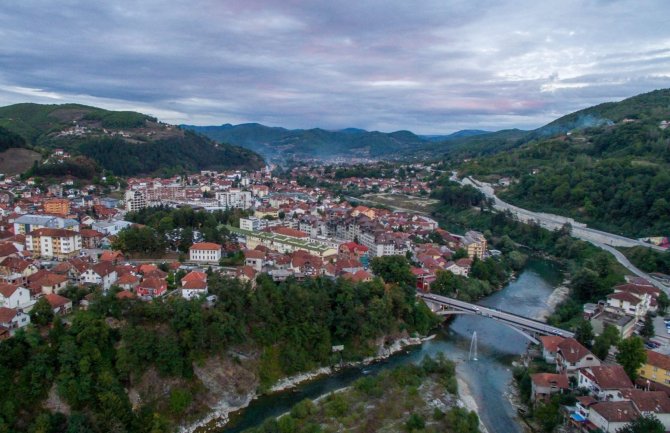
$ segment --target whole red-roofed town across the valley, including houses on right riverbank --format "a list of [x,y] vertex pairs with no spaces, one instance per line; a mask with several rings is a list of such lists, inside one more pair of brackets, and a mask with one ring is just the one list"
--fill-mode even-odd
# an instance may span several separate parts
[[[346,166],[298,166],[281,177],[266,167],[128,178],[123,185],[106,178],[91,185],[5,178],[0,185],[0,340],[31,322],[48,324],[45,316],[67,320],[73,310],[88,308],[96,292],[146,302],[181,296],[216,303],[207,285],[213,273],[236,278],[249,290],[259,274],[276,282],[317,276],[366,282],[375,278],[375,258],[401,256],[412,264],[416,289],[430,292],[443,273],[467,278],[475,262],[495,260],[501,251],[490,248],[480,232],[450,233],[420,210],[363,205],[366,199],[357,203],[355,196],[425,198],[437,176],[431,166],[414,164],[382,168],[375,177]],[[215,215],[214,229],[162,218],[168,227],[157,248],[143,249],[146,240],[140,248],[131,243],[133,231],[156,236],[135,221],[138,216],[184,209]],[[87,294],[72,300],[67,295],[73,288]],[[565,428],[572,431],[615,432],[650,414],[670,429],[665,335],[654,339],[647,331],[646,360],[632,372],[617,362],[614,343],[598,355],[586,347],[594,338],[597,345],[602,335],[620,341],[640,334],[651,315],[655,329],[665,329],[659,315],[667,308],[664,295],[648,281],[629,277],[606,299],[584,305],[593,336],[581,342],[579,336],[539,337],[537,356],[551,371],[529,376],[532,404],[547,403],[556,394],[576,395],[562,405]]]

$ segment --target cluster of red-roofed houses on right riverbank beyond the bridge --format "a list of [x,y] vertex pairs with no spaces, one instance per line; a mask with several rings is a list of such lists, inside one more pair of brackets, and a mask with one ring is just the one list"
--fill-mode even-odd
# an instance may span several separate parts
[[[612,326],[620,338],[628,338],[640,319],[656,310],[658,295],[646,280],[630,277],[606,301],[587,304],[584,317],[596,334]],[[641,415],[654,415],[670,430],[670,356],[647,350],[647,361],[633,383],[611,357],[600,360],[574,338],[543,336],[540,343],[542,357],[556,372],[531,375],[531,399],[546,402],[556,393],[579,390],[576,404],[564,407],[571,431],[614,433]]]

